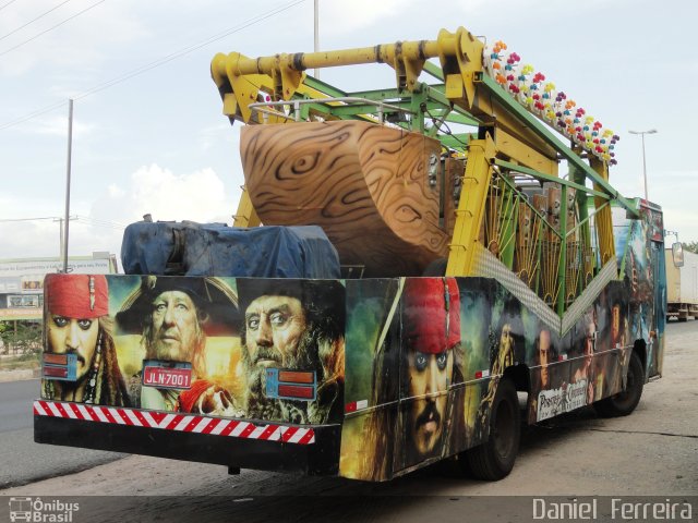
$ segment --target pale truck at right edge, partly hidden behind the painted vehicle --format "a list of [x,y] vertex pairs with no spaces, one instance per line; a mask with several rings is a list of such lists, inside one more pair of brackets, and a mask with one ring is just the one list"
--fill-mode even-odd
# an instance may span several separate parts
[[666,320],[686,321],[698,317],[698,254],[683,250],[683,265],[673,263],[671,248],[664,251],[666,258]]

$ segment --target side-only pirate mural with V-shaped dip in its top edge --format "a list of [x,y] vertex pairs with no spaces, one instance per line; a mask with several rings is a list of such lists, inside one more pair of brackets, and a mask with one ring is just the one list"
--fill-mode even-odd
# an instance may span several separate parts
[[492,279],[380,282],[347,282],[341,475],[388,479],[485,441],[510,366],[529,373],[529,423],[623,389],[631,343],[622,281],[563,336]]

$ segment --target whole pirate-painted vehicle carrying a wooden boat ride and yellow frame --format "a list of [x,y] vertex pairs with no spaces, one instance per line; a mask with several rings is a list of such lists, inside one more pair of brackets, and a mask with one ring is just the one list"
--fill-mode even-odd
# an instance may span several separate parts
[[[306,73],[364,64],[394,85]],[[504,42],[218,53],[212,76],[243,125],[233,227],[133,223],[127,275],[47,277],[37,442],[494,481],[521,422],[628,415],[661,376],[661,207],[611,185],[617,135]]]

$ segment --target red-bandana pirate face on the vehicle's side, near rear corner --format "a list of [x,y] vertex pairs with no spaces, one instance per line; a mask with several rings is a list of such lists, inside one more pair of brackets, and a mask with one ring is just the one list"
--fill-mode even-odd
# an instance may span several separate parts
[[[408,398],[406,464],[441,455],[447,433],[448,387],[460,380],[460,295],[455,278],[411,278],[405,283],[404,329]],[[452,405],[453,408],[453,405]]]

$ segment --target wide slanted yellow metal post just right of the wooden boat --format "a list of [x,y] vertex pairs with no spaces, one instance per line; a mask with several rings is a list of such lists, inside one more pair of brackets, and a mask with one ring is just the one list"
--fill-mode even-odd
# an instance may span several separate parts
[[490,135],[485,135],[484,139],[474,139],[468,146],[466,173],[456,210],[446,276],[469,276],[472,272],[474,247],[482,228],[492,179],[492,160],[495,155],[496,149]]

